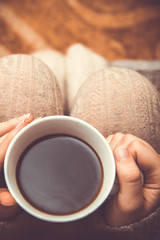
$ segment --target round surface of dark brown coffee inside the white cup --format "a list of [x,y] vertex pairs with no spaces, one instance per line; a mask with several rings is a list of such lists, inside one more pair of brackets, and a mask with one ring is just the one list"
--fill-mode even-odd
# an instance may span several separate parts
[[100,160],[83,141],[67,135],[46,136],[22,154],[17,182],[26,200],[54,215],[67,215],[88,206],[103,179]]

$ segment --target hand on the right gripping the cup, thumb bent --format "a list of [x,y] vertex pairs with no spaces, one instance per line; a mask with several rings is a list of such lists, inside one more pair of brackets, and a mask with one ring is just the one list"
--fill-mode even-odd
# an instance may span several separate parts
[[146,217],[159,206],[160,155],[131,134],[116,133],[107,141],[115,157],[120,190],[106,205],[105,218],[108,225],[119,227]]

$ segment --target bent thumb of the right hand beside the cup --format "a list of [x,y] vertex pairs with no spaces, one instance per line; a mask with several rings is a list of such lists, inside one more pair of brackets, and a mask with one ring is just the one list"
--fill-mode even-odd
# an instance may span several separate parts
[[118,147],[114,152],[119,180],[118,207],[123,211],[134,212],[143,204],[143,180],[141,172],[127,148]]

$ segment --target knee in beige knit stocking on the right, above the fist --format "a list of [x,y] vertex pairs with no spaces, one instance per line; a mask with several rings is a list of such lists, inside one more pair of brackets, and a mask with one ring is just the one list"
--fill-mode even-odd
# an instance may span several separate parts
[[112,67],[93,74],[81,86],[70,115],[89,122],[104,137],[131,133],[160,152],[160,95],[133,70]]

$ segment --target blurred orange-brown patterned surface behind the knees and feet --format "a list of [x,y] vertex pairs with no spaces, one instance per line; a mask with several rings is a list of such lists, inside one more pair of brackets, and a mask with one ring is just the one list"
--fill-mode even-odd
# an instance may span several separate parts
[[159,60],[160,1],[0,0],[0,57],[74,43],[108,60]]

